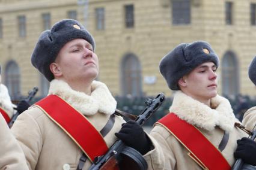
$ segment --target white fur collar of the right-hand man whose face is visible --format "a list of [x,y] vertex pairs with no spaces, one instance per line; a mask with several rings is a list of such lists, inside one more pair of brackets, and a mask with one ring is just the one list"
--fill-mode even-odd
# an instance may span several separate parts
[[174,95],[169,111],[187,123],[206,130],[213,130],[215,126],[219,126],[230,132],[234,128],[234,123],[239,122],[228,99],[217,95],[211,99],[211,106],[212,108],[178,91]]

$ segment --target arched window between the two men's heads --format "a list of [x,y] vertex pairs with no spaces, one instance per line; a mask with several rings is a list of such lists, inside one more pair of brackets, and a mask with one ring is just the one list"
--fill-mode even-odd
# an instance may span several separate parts
[[134,54],[126,54],[121,63],[123,95],[141,96],[141,65]]

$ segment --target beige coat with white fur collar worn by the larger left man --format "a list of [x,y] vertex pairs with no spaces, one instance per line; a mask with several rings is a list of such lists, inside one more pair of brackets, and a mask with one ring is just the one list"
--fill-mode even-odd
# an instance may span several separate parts
[[[99,81],[93,82],[92,93],[88,96],[72,90],[64,81],[53,80],[49,94],[60,96],[84,114],[97,130],[106,125],[117,105],[106,85]],[[108,147],[117,140],[114,133],[120,130],[122,123],[123,118],[116,116],[113,128],[104,138]],[[22,113],[11,130],[25,153],[29,169],[76,169],[78,166],[81,149],[40,108],[32,106]],[[145,159],[151,160],[154,153],[151,150],[145,154]],[[83,169],[90,165],[87,160]]]

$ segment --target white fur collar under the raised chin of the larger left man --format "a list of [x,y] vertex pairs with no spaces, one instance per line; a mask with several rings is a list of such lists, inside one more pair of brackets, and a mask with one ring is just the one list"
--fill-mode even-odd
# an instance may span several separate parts
[[100,113],[112,114],[117,107],[117,101],[109,92],[108,87],[100,81],[91,84],[91,95],[73,90],[69,84],[61,80],[50,82],[49,95],[58,95],[72,107],[84,115]]

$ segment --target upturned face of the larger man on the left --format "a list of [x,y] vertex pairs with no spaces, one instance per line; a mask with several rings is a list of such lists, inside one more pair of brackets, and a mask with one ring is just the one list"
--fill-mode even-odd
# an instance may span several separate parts
[[59,51],[55,63],[67,82],[94,80],[99,73],[98,57],[92,45],[84,39],[67,42]]

